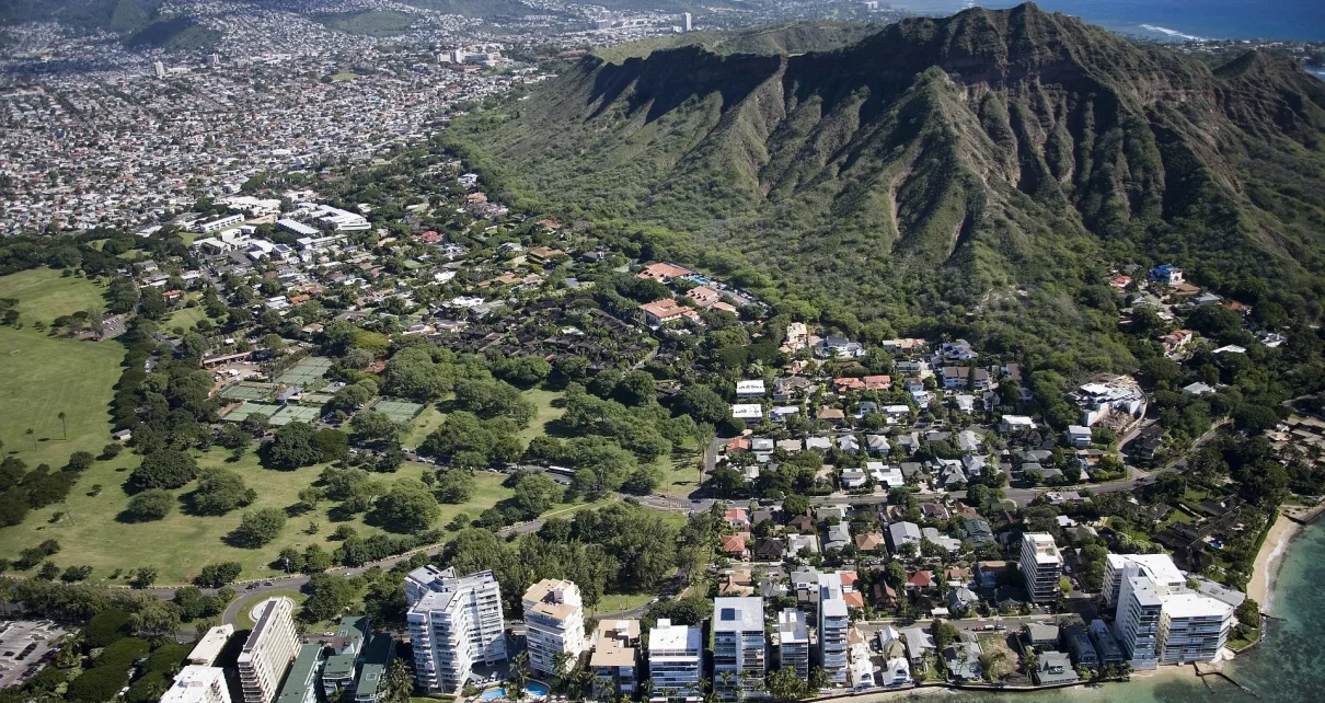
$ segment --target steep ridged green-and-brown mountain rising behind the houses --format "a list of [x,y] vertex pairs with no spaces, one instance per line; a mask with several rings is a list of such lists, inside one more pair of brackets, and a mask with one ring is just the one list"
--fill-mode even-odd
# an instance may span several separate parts
[[543,204],[847,287],[946,269],[974,299],[1101,248],[1292,277],[1322,246],[1325,85],[1259,54],[1211,70],[1032,4],[790,57],[591,57],[481,124],[453,142]]

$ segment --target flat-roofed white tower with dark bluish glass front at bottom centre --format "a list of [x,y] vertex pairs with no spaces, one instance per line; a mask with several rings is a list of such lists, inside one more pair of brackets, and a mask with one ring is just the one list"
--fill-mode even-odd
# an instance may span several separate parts
[[768,642],[763,598],[713,600],[713,690],[723,700],[765,698]]

